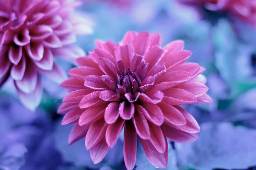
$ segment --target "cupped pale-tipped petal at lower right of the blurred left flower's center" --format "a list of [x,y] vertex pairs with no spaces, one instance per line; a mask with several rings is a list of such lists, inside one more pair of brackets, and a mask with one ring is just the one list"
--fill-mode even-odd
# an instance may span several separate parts
[[44,56],[40,61],[35,61],[35,65],[42,70],[52,70],[53,67],[53,55],[49,48],[44,49]]

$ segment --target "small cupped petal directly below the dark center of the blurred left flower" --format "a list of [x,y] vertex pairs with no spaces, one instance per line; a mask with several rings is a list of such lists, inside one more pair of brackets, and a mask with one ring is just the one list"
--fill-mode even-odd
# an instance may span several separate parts
[[12,45],[9,48],[8,57],[14,65],[17,65],[22,57],[22,46]]

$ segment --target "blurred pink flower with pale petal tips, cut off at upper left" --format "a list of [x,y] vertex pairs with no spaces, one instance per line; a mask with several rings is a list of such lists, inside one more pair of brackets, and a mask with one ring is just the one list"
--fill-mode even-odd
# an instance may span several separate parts
[[35,109],[41,101],[41,74],[61,83],[66,74],[53,56],[75,59],[71,45],[87,34],[86,20],[73,13],[77,0],[0,0],[0,86],[14,79],[21,102]]

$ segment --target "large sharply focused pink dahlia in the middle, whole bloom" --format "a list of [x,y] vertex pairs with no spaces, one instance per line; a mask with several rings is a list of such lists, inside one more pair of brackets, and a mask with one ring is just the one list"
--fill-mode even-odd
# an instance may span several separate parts
[[198,139],[200,128],[178,105],[209,103],[204,68],[184,63],[191,52],[183,41],[161,48],[159,34],[129,31],[122,43],[96,41],[89,57],[77,59],[72,78],[61,86],[67,95],[59,113],[62,125],[75,123],[69,144],[85,138],[94,163],[116,144],[124,127],[124,159],[128,170],[136,160],[137,135],[148,161],[155,167],[168,163],[167,139],[187,143]]

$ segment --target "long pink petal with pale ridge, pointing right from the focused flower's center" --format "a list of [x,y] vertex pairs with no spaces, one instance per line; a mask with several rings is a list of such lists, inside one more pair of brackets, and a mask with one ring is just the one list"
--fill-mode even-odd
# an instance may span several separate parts
[[168,71],[157,80],[154,90],[166,90],[183,82],[189,81],[191,74],[186,71]]

